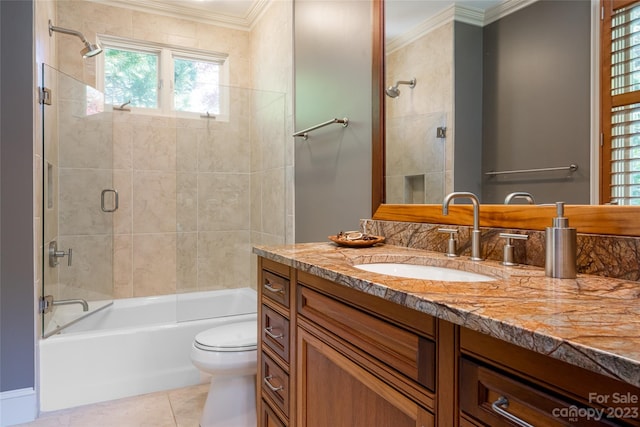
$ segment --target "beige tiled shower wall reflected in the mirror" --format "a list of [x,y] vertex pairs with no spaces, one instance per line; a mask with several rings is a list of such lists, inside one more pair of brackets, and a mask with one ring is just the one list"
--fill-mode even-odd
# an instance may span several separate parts
[[440,203],[453,188],[453,22],[398,44],[386,56],[385,85],[417,83],[385,97],[387,203]]

